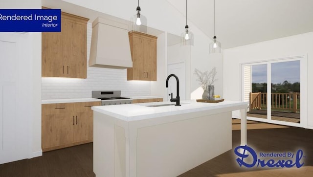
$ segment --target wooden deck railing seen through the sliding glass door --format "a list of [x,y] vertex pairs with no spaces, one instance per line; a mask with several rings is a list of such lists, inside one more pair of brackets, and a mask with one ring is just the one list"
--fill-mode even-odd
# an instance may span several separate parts
[[[272,110],[289,110],[300,112],[300,93],[271,93],[270,108]],[[250,110],[260,110],[267,108],[267,93],[250,93]]]

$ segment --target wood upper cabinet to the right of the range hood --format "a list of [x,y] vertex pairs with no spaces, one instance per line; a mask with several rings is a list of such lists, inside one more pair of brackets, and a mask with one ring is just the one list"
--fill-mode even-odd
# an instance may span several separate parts
[[127,68],[127,80],[156,81],[156,36],[129,32],[133,67]]

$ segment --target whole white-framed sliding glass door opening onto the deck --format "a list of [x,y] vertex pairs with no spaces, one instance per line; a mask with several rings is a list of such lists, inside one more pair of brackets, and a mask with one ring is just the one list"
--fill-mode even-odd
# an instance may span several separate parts
[[242,100],[249,102],[250,120],[300,123],[300,61],[292,58],[242,65]]

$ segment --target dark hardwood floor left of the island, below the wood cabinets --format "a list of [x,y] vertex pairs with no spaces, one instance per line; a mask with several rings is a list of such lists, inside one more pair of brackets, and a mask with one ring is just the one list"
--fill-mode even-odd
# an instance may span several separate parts
[[0,165],[0,177],[95,177],[92,143]]

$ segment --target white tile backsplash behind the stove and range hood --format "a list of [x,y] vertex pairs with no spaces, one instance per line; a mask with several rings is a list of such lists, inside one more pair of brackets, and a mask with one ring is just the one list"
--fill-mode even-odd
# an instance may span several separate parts
[[[87,59],[92,26],[87,25]],[[88,62],[87,62],[88,63]],[[42,99],[91,98],[91,90],[121,90],[122,96],[150,95],[149,81],[127,81],[126,69],[87,67],[87,79],[42,78]]]

